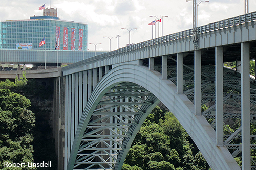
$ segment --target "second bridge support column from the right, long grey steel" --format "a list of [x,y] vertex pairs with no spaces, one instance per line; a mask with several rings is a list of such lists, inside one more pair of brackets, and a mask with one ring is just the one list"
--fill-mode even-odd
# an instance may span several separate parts
[[223,146],[223,47],[215,47],[216,145]]

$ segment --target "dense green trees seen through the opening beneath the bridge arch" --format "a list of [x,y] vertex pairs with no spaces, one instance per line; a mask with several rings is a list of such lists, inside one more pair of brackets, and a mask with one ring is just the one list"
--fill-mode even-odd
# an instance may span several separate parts
[[141,126],[122,169],[209,169],[190,140],[172,113],[156,107]]

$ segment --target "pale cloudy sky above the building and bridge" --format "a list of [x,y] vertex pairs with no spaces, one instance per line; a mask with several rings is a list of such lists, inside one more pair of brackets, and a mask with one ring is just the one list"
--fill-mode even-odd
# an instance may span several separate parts
[[[201,0],[197,0],[199,3]],[[173,34],[192,28],[193,2],[186,0],[12,0],[0,4],[0,21],[29,19],[30,16],[42,16],[41,5],[46,8],[57,8],[61,20],[88,24],[88,50],[95,46],[89,43],[102,43],[96,46],[97,51],[116,50],[131,43],[152,39],[152,26],[148,23],[156,17],[163,17],[160,23],[160,36]],[[249,12],[256,11],[256,1],[249,0]],[[199,26],[244,14],[244,0],[210,0],[199,4]],[[149,17],[149,16],[156,17]],[[126,28],[126,29],[121,29]],[[155,28],[155,27],[154,27]],[[154,38],[155,38],[155,30]],[[156,27],[158,37],[158,23]]]

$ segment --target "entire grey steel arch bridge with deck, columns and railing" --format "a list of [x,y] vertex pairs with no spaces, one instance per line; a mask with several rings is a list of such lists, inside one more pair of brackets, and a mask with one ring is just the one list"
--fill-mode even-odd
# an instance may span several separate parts
[[[256,13],[141,42],[63,68],[65,169],[121,169],[134,137],[161,101],[212,169],[255,169]],[[208,29],[208,30],[207,30]],[[231,69],[224,62],[236,62]],[[201,112],[203,104],[209,109]],[[227,119],[241,120],[225,132]],[[234,158],[242,154],[242,167]]]

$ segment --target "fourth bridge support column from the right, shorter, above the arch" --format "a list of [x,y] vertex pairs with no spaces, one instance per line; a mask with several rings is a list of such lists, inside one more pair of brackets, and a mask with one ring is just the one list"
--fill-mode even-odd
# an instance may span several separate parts
[[177,94],[183,93],[183,54],[177,53]]

